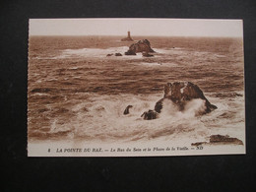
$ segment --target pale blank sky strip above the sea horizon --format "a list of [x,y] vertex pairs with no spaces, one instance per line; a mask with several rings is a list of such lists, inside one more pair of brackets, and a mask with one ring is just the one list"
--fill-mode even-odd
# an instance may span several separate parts
[[242,20],[30,19],[30,35],[156,35],[242,37]]

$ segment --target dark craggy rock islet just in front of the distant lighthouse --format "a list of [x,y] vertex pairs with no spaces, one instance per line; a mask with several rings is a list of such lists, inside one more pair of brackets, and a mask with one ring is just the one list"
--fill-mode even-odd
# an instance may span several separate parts
[[143,40],[139,40],[136,43],[133,43],[130,45],[128,51],[126,51],[124,54],[125,55],[136,55],[136,53],[138,52],[155,52],[152,48],[151,48],[151,43],[148,39],[143,39]]

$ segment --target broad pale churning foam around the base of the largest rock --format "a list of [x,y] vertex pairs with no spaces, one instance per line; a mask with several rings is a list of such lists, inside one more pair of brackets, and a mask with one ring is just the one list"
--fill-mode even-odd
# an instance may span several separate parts
[[[71,110],[74,117],[66,124],[52,122],[51,132],[71,130],[70,137],[74,139],[88,138],[102,141],[145,141],[152,138],[161,140],[175,140],[177,137],[186,137],[186,142],[205,141],[210,135],[223,134],[231,137],[239,136],[242,141],[244,131],[244,116],[242,113],[235,117],[222,118],[224,112],[232,114],[237,106],[217,97],[209,97],[218,109],[211,113],[197,116],[204,110],[204,100],[193,99],[187,103],[183,111],[170,101],[163,101],[160,117],[155,120],[144,120],[141,115],[144,111],[154,109],[156,101],[161,95],[152,96],[92,96],[92,99],[80,101]],[[237,99],[237,98],[234,98]],[[238,98],[240,99],[240,98]],[[236,100],[237,101],[237,100]],[[124,115],[127,105],[133,105],[130,113]],[[240,109],[243,106],[239,106]],[[233,119],[238,119],[234,122]],[[222,129],[224,125],[224,129]]]

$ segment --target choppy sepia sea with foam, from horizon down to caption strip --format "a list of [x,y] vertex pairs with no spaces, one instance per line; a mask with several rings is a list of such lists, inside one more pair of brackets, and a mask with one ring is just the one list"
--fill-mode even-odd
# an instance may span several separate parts
[[[111,56],[131,42],[120,36],[31,36],[29,140],[142,141],[213,133],[244,140],[243,44],[240,38],[147,37],[155,57]],[[143,37],[134,37],[142,39]],[[198,85],[218,109],[201,117],[164,107],[143,120],[167,82]],[[131,114],[123,115],[132,104]]]

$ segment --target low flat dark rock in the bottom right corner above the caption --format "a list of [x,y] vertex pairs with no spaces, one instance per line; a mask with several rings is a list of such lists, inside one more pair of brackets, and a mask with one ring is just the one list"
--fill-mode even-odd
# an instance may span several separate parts
[[192,143],[191,146],[201,146],[209,144],[233,144],[233,145],[243,145],[243,142],[237,138],[231,138],[228,135],[211,135],[209,142],[197,142]]

